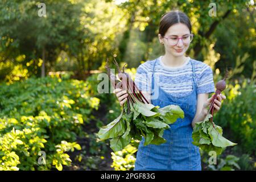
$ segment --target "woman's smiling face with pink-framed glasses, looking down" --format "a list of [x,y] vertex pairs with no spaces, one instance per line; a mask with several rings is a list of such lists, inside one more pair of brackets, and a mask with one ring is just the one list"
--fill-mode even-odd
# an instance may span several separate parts
[[188,39],[190,40],[190,34],[191,33],[185,24],[176,23],[168,28],[166,34],[164,35],[165,38],[160,36],[160,34],[158,34],[158,37],[160,43],[164,44],[166,52],[175,57],[179,57],[183,56],[189,47],[190,41],[188,41]]

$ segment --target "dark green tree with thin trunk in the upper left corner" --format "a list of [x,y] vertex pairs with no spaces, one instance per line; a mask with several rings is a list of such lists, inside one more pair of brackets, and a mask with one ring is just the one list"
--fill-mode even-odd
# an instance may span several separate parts
[[[43,1],[46,16],[39,16],[38,3],[35,1],[7,1],[0,5],[0,36],[5,59],[26,55],[26,62],[31,59],[43,59],[42,76],[45,76],[46,60],[55,61],[61,49],[79,42],[81,31],[79,17],[81,6],[70,1]],[[66,18],[69,17],[69,18]],[[75,42],[75,43],[74,43]],[[15,49],[15,51],[11,51]]]

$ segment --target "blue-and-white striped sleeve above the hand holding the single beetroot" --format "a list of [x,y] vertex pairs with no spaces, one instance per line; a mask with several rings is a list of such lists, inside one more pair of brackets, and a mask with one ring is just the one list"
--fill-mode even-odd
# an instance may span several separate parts
[[202,68],[199,84],[197,86],[197,94],[200,93],[213,93],[215,91],[213,82],[213,72],[209,65]]

